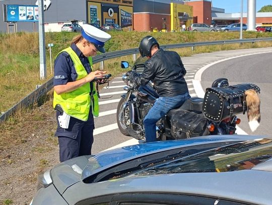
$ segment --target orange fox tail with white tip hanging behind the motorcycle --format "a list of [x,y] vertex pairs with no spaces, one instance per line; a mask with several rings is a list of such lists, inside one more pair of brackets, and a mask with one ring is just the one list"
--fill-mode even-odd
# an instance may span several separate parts
[[255,131],[260,122],[260,99],[257,92],[253,89],[245,91],[247,118],[251,131]]

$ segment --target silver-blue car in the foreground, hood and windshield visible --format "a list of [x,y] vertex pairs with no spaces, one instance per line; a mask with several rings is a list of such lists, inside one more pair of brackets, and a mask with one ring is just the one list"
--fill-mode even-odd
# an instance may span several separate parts
[[210,135],[67,160],[39,175],[31,204],[270,205],[271,184],[271,136]]

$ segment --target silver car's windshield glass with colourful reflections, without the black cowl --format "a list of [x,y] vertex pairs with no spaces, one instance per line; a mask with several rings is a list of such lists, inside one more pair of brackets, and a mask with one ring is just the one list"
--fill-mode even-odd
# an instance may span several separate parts
[[238,143],[175,159],[140,171],[138,175],[189,172],[230,172],[251,169],[272,157],[271,140]]

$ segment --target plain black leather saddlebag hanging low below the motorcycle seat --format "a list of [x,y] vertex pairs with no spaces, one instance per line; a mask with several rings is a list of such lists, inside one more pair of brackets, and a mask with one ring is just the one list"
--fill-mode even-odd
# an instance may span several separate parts
[[177,110],[170,116],[170,121],[171,135],[177,140],[210,133],[207,129],[207,119],[202,114]]

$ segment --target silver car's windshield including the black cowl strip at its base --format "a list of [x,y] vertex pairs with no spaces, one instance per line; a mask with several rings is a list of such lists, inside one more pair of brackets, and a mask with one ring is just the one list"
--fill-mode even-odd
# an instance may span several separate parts
[[272,156],[272,140],[214,143],[168,150],[134,158],[84,179],[94,183],[131,174],[228,172],[251,169]]

